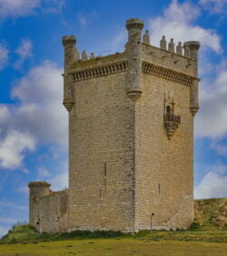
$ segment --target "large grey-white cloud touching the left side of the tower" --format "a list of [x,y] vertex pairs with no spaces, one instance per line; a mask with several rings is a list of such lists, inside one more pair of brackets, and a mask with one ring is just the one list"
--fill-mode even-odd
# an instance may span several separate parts
[[25,129],[41,143],[67,145],[67,111],[63,102],[63,70],[53,63],[33,67],[18,81],[12,95],[21,104],[15,109],[15,127]]

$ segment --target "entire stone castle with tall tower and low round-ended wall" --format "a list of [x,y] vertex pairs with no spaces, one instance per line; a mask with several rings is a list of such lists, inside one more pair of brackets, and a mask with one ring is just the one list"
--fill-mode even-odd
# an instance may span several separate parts
[[[40,232],[185,229],[193,220],[193,117],[199,42],[151,46],[143,21],[126,21],[123,53],[79,54],[64,36],[69,189],[30,182]],[[142,40],[143,37],[143,40]]]

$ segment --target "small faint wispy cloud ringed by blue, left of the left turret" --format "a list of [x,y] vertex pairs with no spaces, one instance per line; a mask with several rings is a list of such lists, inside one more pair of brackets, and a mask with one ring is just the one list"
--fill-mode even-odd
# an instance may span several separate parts
[[21,67],[25,62],[25,59],[33,56],[32,50],[32,42],[30,40],[23,39],[15,50],[15,53],[19,56],[19,59],[15,62],[15,68]]

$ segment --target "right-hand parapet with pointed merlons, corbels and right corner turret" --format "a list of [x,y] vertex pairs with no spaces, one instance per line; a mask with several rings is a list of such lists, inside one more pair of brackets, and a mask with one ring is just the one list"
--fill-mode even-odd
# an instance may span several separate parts
[[[167,49],[168,46],[168,49]],[[167,44],[165,36],[160,47],[143,43],[143,73],[163,77],[190,87],[190,109],[192,116],[199,109],[198,99],[198,52],[197,41],[174,44],[173,38]]]

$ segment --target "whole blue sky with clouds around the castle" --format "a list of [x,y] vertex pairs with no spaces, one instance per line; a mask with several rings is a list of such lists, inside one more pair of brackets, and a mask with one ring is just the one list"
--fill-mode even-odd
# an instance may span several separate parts
[[201,42],[195,198],[227,197],[226,11],[227,0],[0,0],[0,236],[28,220],[29,181],[67,187],[62,36],[89,55],[123,51],[131,17],[154,46]]

